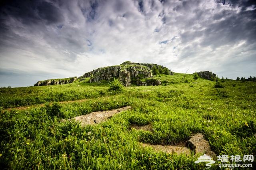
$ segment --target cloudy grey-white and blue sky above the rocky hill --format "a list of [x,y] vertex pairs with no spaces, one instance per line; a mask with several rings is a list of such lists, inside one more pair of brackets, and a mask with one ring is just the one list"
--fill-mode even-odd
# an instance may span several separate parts
[[256,76],[256,1],[0,1],[0,87],[145,59],[176,73]]

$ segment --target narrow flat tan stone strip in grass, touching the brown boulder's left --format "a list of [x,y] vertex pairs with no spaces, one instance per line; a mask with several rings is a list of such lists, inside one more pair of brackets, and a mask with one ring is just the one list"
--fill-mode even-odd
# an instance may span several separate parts
[[190,155],[190,152],[191,152],[191,150],[186,146],[171,146],[171,145],[162,146],[162,145],[152,145],[152,144],[145,144],[145,143],[141,143],[141,145],[143,147],[150,146],[157,152],[166,152],[168,154],[176,153],[178,155],[179,154]]

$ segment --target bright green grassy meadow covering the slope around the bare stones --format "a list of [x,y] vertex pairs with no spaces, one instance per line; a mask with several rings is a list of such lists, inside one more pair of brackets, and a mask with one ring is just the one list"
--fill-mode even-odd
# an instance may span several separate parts
[[[204,134],[217,156],[256,158],[255,82],[226,79],[216,86],[215,81],[181,73],[156,78],[165,83],[120,92],[109,91],[107,82],[88,83],[88,79],[0,88],[0,167],[200,170],[206,166],[194,163],[199,157],[194,152],[167,154],[140,145],[178,145],[197,132]],[[94,126],[60,121],[129,105],[131,110]],[[131,124],[151,124],[153,130],[131,129]],[[210,169],[220,169],[219,163]],[[255,160],[247,163],[256,167]]]

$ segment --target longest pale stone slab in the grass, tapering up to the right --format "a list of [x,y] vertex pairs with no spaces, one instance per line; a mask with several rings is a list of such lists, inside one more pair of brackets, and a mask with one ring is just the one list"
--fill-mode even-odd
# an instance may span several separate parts
[[[109,117],[112,117],[113,115],[116,115],[119,112],[126,111],[128,109],[131,109],[131,106],[126,106],[126,107],[113,109],[109,111],[92,112],[90,114],[74,117],[72,119],[74,119],[75,121],[81,122],[82,126],[95,125],[103,121],[106,121]],[[68,120],[71,120],[71,119],[68,119]],[[65,119],[62,119],[62,121],[65,121]]]

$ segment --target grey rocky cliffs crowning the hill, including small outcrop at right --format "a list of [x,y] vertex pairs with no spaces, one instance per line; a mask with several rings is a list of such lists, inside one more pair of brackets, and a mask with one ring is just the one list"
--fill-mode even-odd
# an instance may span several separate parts
[[[80,77],[71,77],[66,79],[50,79],[38,81],[34,86],[43,85],[62,85],[73,83],[74,81],[84,81],[88,78],[90,83],[101,83],[102,81],[113,81],[118,79],[125,87],[130,85],[147,86],[161,85],[162,83],[170,83],[168,80],[158,75],[174,75],[175,73],[164,67],[153,63],[132,63],[125,61],[120,65],[100,67]],[[216,74],[210,71],[200,71],[198,75],[204,79],[214,81]]]

